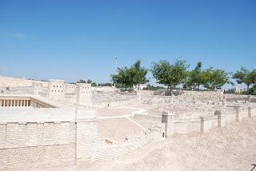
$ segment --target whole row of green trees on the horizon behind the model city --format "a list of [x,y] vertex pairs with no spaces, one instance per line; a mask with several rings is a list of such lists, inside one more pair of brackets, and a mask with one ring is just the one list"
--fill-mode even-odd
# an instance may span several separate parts
[[[166,60],[153,62],[150,70],[141,66],[141,61],[137,61],[130,67],[118,68],[116,74],[111,74],[110,78],[114,84],[128,89],[137,85],[146,84],[149,80],[146,74],[150,71],[159,84],[166,85],[167,89],[220,89],[225,84],[234,85],[230,78],[234,78],[238,84],[247,85],[247,93],[256,94],[256,69],[247,70],[241,67],[234,74],[225,70],[209,68],[202,69],[202,62],[198,62],[193,70],[188,70],[189,66],[186,61],[178,59],[173,63]],[[157,89],[148,85],[146,89]]]

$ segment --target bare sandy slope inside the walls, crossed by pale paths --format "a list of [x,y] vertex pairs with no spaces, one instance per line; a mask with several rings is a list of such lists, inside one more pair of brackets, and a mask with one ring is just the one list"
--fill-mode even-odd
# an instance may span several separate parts
[[[161,112],[158,109],[152,109],[150,105],[142,105],[141,101],[119,106],[114,109],[98,109],[98,138],[108,138],[113,141],[124,141],[129,134],[142,133],[143,128],[149,129],[152,127],[155,121],[133,116],[129,117],[129,115],[133,115],[133,112],[138,112],[141,109],[145,109],[149,115],[161,115]],[[102,117],[108,118],[102,119]],[[141,125],[142,127],[134,124],[134,122],[130,121],[127,117],[137,122],[138,125]],[[161,121],[161,119],[159,121]]]

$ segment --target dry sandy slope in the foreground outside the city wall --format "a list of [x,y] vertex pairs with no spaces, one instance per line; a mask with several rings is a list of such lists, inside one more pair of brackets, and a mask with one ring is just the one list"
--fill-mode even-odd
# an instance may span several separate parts
[[[47,170],[251,170],[256,164],[256,118],[209,133],[154,141],[113,161]],[[256,169],[255,169],[256,170]]]

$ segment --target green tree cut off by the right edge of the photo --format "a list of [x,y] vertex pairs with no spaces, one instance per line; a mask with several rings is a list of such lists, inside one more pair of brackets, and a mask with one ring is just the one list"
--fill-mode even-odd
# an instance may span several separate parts
[[238,84],[246,84],[247,91],[249,91],[250,85],[256,84],[256,70],[247,70],[245,67],[241,67],[233,74],[233,78]]

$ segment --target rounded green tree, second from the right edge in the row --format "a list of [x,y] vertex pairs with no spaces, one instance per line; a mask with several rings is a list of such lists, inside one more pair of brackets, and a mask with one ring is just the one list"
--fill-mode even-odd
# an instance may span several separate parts
[[210,67],[202,71],[202,85],[206,89],[214,90],[216,88],[221,88],[225,84],[232,84],[229,79],[229,73],[225,70],[215,69]]

